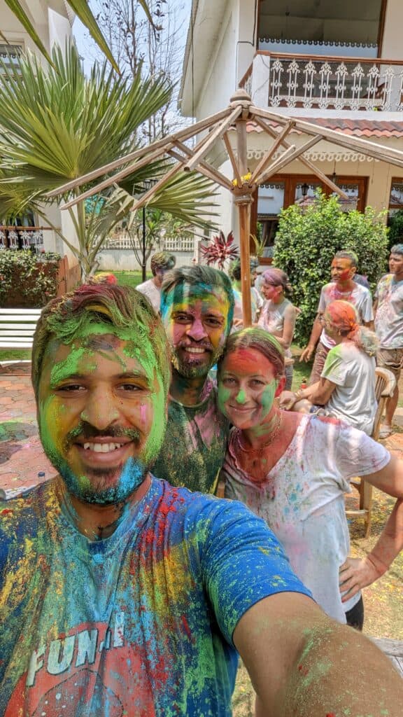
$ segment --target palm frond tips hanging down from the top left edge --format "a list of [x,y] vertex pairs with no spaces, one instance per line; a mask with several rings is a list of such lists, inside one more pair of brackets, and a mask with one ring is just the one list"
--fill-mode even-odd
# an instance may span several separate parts
[[[153,24],[153,21],[151,19],[151,14],[148,9],[146,0],[136,0],[143,10],[145,11],[149,22]],[[44,54],[44,56],[47,58],[49,62],[52,62],[51,58],[49,57],[49,54],[47,53],[47,49],[44,47],[44,44],[42,43],[39,35],[37,34],[32,22],[29,19],[29,16],[27,15],[27,12],[24,9],[24,0],[21,2],[20,0],[5,0],[6,5],[9,6],[12,12],[14,12],[14,15],[16,18],[19,19],[19,22],[21,22],[24,29],[29,34],[29,37],[33,40],[33,42],[37,45],[39,50]],[[70,5],[72,11],[75,12],[78,18],[80,18],[81,22],[85,24],[85,27],[90,31],[90,34],[92,35],[93,39],[95,39],[95,42],[98,44],[100,49],[102,49],[103,53],[106,57],[108,57],[109,62],[111,65],[119,72],[118,65],[116,65],[115,60],[113,59],[113,55],[110,52],[110,49],[108,47],[108,43],[105,40],[105,37],[103,37],[102,32],[100,31],[100,28],[98,27],[97,21],[95,20],[95,17],[93,16],[93,13],[90,10],[90,6],[87,2],[87,0],[67,0],[67,4]],[[57,9],[57,3],[54,3],[55,9]],[[49,2],[49,6],[52,7],[52,0]],[[0,33],[1,34],[1,33]]]

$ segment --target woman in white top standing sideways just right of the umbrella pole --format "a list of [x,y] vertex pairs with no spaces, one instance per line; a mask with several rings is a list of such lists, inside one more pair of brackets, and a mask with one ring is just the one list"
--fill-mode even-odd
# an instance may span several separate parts
[[293,356],[291,343],[293,342],[295,306],[287,298],[292,293],[290,281],[281,269],[270,267],[262,274],[262,293],[265,296],[258,321],[261,326],[277,338],[285,352],[285,389],[290,390],[293,385]]

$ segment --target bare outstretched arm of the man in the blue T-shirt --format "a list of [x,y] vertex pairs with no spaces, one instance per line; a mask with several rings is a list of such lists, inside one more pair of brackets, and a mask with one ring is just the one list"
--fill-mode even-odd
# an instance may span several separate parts
[[401,717],[403,679],[375,645],[298,593],[257,602],[234,644],[257,693],[256,717]]

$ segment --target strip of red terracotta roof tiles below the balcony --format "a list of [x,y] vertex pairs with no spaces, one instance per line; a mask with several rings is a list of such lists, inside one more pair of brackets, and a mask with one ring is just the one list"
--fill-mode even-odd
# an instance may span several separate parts
[[[295,119],[305,120],[314,125],[325,127],[330,130],[340,131],[343,134],[354,137],[403,137],[402,122],[382,122],[376,120],[347,120],[345,118],[324,118],[324,117],[297,117]],[[272,120],[266,120],[273,129],[280,129],[280,125]],[[254,122],[247,123],[248,132],[263,132],[262,128]]]

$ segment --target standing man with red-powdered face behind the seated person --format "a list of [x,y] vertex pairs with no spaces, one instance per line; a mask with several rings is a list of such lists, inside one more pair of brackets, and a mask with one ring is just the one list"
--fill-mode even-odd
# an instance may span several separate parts
[[310,373],[309,384],[316,384],[321,378],[326,356],[334,346],[333,339],[328,336],[321,323],[321,317],[326,306],[335,300],[349,301],[356,307],[359,323],[373,328],[374,313],[372,310],[372,297],[369,289],[356,284],[354,275],[357,270],[357,256],[355,252],[337,252],[331,262],[331,282],[324,285],[319,298],[318,314],[313,322],[308,346],[300,355],[300,361],[310,361],[316,348],[315,360]]

